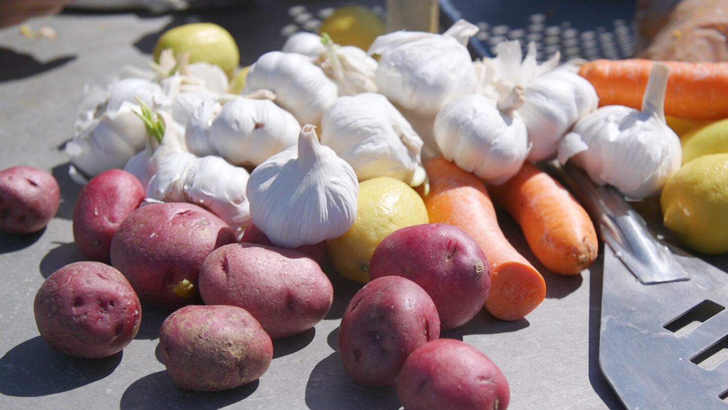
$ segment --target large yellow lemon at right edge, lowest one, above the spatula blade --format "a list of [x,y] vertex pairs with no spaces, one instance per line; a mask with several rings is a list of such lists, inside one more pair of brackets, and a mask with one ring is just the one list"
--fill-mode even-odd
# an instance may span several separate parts
[[703,155],[685,164],[660,197],[662,220],[698,252],[728,252],[728,154]]

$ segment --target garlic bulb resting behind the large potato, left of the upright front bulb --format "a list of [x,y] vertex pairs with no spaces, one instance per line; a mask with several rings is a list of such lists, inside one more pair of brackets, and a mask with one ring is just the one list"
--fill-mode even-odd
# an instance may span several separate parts
[[250,223],[245,194],[248,177],[248,171],[220,157],[197,158],[189,152],[177,152],[159,164],[146,196],[202,206],[225,221],[240,239]]

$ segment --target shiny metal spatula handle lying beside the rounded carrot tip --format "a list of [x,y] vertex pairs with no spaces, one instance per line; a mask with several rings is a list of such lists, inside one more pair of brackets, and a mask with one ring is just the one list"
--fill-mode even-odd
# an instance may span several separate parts
[[610,186],[598,186],[574,166],[549,163],[598,226],[617,258],[644,285],[687,280],[687,271],[664,244],[654,239],[642,217]]

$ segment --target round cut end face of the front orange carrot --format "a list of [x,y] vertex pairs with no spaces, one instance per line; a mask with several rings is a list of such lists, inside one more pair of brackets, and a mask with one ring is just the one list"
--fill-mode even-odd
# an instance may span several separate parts
[[491,273],[491,291],[486,309],[500,320],[520,320],[546,297],[546,282],[531,266],[510,262]]

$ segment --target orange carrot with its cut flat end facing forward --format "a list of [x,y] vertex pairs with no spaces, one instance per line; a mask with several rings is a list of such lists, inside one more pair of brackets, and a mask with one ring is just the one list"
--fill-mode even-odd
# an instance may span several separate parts
[[546,282],[503,235],[485,185],[443,157],[424,163],[430,194],[423,196],[431,223],[462,229],[480,245],[491,266],[486,309],[501,320],[519,320],[539,306]]

